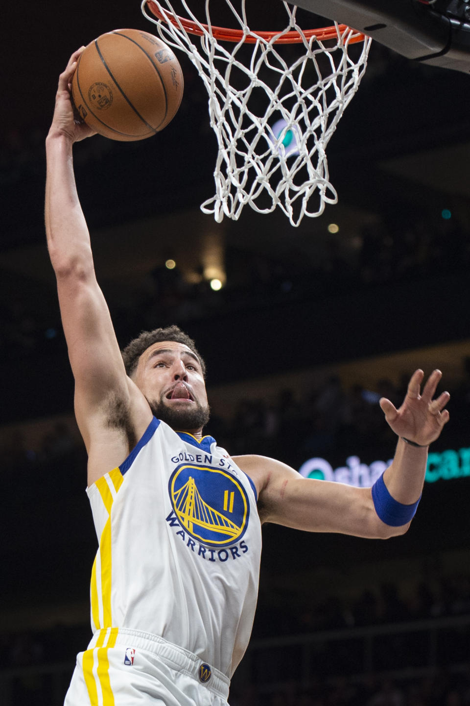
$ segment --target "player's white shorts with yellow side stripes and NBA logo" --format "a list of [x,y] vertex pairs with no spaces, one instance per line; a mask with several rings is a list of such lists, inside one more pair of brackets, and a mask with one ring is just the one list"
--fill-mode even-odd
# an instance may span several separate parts
[[230,681],[156,635],[108,628],[77,657],[64,706],[228,706]]

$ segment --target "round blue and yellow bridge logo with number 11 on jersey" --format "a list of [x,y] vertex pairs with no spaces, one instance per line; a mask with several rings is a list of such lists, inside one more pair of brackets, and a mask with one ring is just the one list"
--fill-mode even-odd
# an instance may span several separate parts
[[247,491],[226,471],[181,465],[173,472],[168,490],[178,522],[198,542],[229,546],[245,534]]

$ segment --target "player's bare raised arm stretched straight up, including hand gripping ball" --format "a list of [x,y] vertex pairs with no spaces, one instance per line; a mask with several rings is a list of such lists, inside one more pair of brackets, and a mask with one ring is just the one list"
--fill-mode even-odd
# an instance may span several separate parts
[[[93,134],[74,119],[70,80],[82,49],[61,74],[54,119],[47,136],[45,220],[63,330],[75,377],[75,412],[88,450],[106,428],[113,407],[129,404],[123,360],[106,301],[94,273],[92,249],[73,174],[73,143]],[[123,450],[118,453],[122,455]],[[122,460],[122,459],[121,459]],[[113,460],[109,460],[110,463]],[[112,466],[111,466],[112,467]]]

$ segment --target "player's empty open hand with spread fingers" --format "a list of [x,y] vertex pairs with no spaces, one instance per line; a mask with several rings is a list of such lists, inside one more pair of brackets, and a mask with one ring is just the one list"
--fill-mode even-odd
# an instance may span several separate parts
[[438,438],[444,424],[449,421],[449,412],[444,409],[450,398],[449,393],[442,393],[433,400],[435,388],[442,374],[440,370],[434,370],[421,394],[424,373],[422,370],[416,370],[409,381],[407,395],[399,409],[396,409],[386,397],[381,398],[379,404],[385,419],[398,436],[404,436],[409,441],[422,446]]

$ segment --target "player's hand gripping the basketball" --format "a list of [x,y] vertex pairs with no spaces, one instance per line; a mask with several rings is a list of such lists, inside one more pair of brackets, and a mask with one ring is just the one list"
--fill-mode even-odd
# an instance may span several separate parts
[[89,128],[87,124],[78,116],[74,110],[72,101],[72,76],[77,68],[80,54],[85,47],[80,47],[68,60],[66,70],[61,73],[58,79],[58,89],[56,94],[56,107],[52,119],[49,136],[66,136],[72,142],[79,142],[87,137],[96,134],[96,131]]

